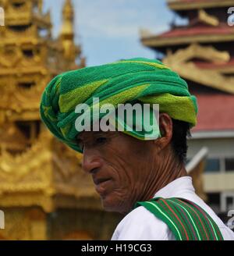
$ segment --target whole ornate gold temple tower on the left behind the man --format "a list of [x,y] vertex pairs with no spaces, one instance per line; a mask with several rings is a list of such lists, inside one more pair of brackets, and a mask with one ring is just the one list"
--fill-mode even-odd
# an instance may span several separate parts
[[[79,68],[75,59],[80,57],[80,47],[69,37],[71,30],[51,40],[50,15],[42,13],[41,0],[0,0],[0,4],[7,16],[0,32],[0,207],[37,205],[44,212],[60,204],[76,207],[77,198],[97,197],[90,177],[81,172],[80,156],[37,123],[44,87],[52,76]],[[70,27],[72,8],[67,1],[64,22]],[[41,37],[39,27],[48,34]],[[73,59],[67,55],[71,49]],[[84,64],[84,59],[80,62]],[[24,131],[19,122],[27,124],[21,128]]]

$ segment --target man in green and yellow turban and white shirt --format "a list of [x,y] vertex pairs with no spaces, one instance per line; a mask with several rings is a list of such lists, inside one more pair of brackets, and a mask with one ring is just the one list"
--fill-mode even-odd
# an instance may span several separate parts
[[[137,130],[141,115],[134,116],[133,130],[77,129],[91,120],[80,121],[84,103],[94,112],[104,104],[117,110],[119,104],[136,102],[151,105],[150,119],[159,104],[151,133]],[[55,137],[83,152],[83,169],[93,177],[105,210],[126,214],[112,240],[234,240],[187,176],[186,135],[197,122],[197,101],[186,82],[161,62],[125,59],[63,73],[46,87],[40,110]],[[126,127],[128,117],[118,115],[113,126]],[[102,122],[100,116],[92,119]]]

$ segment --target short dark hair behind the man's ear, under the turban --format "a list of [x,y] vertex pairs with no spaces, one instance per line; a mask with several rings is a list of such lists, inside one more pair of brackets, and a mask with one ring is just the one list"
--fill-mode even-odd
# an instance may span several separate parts
[[172,149],[179,162],[186,162],[187,154],[187,137],[191,137],[190,124],[172,119]]

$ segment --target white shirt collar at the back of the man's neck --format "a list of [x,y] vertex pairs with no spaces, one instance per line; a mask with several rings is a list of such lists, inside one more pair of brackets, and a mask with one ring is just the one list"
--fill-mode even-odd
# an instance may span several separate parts
[[165,187],[158,190],[154,197],[183,197],[185,192],[195,193],[192,178],[190,176],[183,176],[171,183],[168,183]]

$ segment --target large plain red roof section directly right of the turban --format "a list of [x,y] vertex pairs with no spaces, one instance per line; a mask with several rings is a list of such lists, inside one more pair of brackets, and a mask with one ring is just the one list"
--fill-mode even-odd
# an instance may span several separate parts
[[234,95],[197,94],[197,131],[234,130]]

